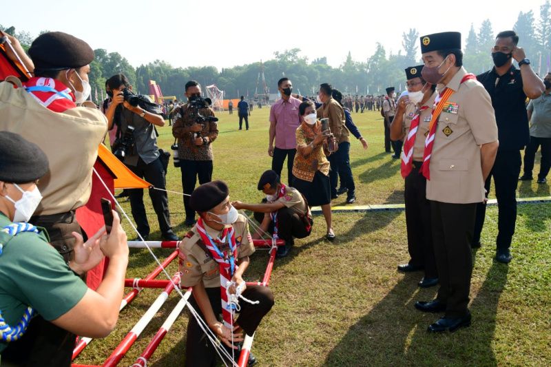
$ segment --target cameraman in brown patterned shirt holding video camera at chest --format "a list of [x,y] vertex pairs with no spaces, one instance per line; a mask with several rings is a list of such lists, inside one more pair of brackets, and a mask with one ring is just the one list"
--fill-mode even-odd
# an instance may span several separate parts
[[197,178],[200,185],[212,180],[211,143],[218,136],[218,118],[209,107],[209,98],[201,97],[198,82],[185,84],[185,96],[188,102],[180,107],[180,117],[172,125],[172,135],[178,139],[182,187],[188,194],[184,196],[184,224],[191,227],[195,223],[195,211],[189,206],[189,195],[195,189]]

